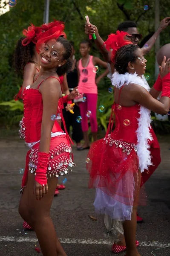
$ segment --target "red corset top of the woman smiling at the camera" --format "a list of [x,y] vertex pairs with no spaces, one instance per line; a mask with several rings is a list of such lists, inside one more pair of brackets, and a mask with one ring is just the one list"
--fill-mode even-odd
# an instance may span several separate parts
[[[39,86],[38,86],[39,87]],[[40,140],[41,122],[43,116],[43,100],[42,94],[38,89],[23,90],[23,122],[25,126],[25,141],[32,143]],[[63,132],[60,125],[55,121],[54,132]]]

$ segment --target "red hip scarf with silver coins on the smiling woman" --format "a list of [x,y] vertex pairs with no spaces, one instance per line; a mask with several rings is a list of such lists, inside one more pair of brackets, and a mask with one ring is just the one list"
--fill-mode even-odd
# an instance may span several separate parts
[[[39,149],[32,148],[31,153],[29,154],[29,171],[31,173],[34,173],[36,175],[36,169],[37,169],[37,163],[38,163],[38,152]],[[66,152],[70,153],[69,157],[66,155],[59,154]],[[49,177],[59,177],[64,176],[70,172],[72,172],[72,169],[68,169],[68,166],[72,168],[75,166],[75,163],[72,162],[71,158],[72,154],[72,148],[71,146],[66,145],[65,143],[61,143],[56,148],[53,148],[49,151],[49,161],[48,161],[48,167],[46,176],[49,175]],[[54,157],[58,156],[57,159],[53,160]]]

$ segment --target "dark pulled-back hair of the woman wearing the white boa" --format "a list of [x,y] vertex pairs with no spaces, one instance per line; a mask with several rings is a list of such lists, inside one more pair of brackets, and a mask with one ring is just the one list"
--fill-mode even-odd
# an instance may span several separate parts
[[118,51],[115,54],[114,61],[115,61],[115,70],[119,74],[125,74],[128,72],[127,71],[128,63],[130,61],[134,62],[137,59],[137,56],[135,55],[135,51],[138,48],[139,47],[135,44],[128,44],[118,49]]

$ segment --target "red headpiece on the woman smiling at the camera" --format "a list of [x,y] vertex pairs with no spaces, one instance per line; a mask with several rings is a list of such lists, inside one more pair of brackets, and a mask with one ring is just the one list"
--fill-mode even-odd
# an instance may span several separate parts
[[56,40],[59,38],[59,36],[66,38],[66,33],[63,32],[64,27],[64,23],[58,20],[54,20],[48,24],[43,24],[41,26],[41,30],[44,32],[38,38],[36,44],[37,52],[39,53],[42,49],[42,45],[52,38],[55,38]]

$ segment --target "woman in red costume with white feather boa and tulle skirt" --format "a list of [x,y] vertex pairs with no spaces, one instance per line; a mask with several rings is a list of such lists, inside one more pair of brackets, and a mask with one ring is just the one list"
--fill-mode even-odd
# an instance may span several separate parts
[[[115,102],[107,134],[92,144],[86,161],[89,187],[96,188],[94,206],[105,236],[111,236],[117,243],[124,235],[127,247],[123,250],[127,249],[127,256],[140,256],[135,241],[136,210],[141,173],[153,165],[149,150],[154,139],[150,111],[160,114],[169,111],[170,59],[163,71],[164,65],[160,67],[161,78],[150,90],[140,77],[145,73],[147,61],[138,46],[123,40],[126,35],[117,32],[105,42],[108,50],[113,49]],[[156,99],[158,87],[162,87],[160,102]]]

